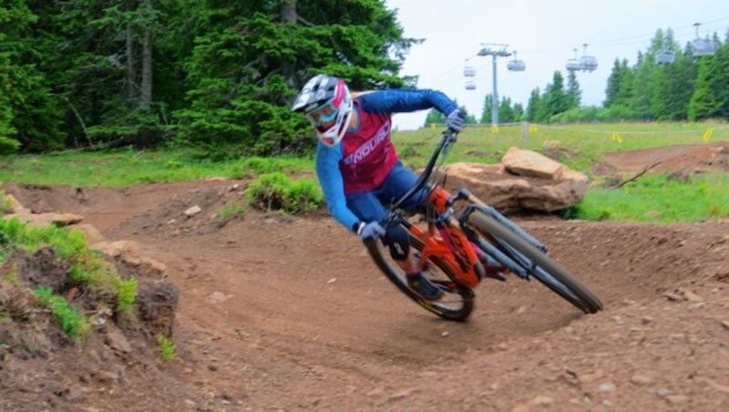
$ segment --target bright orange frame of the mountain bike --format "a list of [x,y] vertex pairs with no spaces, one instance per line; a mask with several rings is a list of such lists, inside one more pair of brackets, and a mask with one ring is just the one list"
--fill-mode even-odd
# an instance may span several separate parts
[[[447,201],[450,193],[440,186],[430,192],[428,203],[438,214],[447,211]],[[457,283],[467,287],[475,287],[478,284],[477,265],[478,257],[466,234],[461,231],[460,223],[450,218],[447,221],[446,231],[449,239],[442,239],[436,236],[436,224],[428,220],[427,230],[424,231],[416,225],[410,226],[410,232],[424,243],[423,251],[420,252],[420,268],[423,269],[428,259],[436,256],[441,261],[448,263],[456,274]],[[449,244],[450,243],[450,244]]]

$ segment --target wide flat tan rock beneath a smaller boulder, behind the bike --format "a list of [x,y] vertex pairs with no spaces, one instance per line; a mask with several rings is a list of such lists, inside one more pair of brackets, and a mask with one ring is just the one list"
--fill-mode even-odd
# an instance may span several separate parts
[[516,176],[503,165],[456,163],[448,166],[446,189],[467,188],[478,199],[505,213],[559,211],[582,200],[587,176],[563,168],[559,179]]

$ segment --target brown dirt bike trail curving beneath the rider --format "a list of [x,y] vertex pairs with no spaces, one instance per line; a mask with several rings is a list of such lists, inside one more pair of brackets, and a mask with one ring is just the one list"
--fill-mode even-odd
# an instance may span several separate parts
[[[240,181],[122,189],[5,185],[36,211],[80,213],[168,263],[180,288],[171,363],[117,384],[0,386],[0,407],[61,410],[726,410],[729,222],[519,220],[601,297],[583,315],[536,282],[477,289],[465,324],[407,300],[325,216],[211,216]],[[239,185],[239,186],[235,186]],[[198,204],[192,218],[183,211]],[[63,356],[78,355],[70,348]],[[59,355],[60,356],[60,355]],[[49,366],[50,365],[50,366]],[[128,365],[131,365],[129,363]],[[0,368],[1,369],[1,368]]]

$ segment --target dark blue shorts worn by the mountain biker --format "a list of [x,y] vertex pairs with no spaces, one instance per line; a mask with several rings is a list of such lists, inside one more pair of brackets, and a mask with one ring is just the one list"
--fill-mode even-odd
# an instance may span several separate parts
[[[398,161],[378,189],[347,195],[347,207],[361,221],[380,221],[387,215],[385,204],[398,201],[410,188],[415,186],[416,181],[417,175]],[[406,209],[415,210],[424,203],[425,197],[426,190],[421,190],[403,206]]]

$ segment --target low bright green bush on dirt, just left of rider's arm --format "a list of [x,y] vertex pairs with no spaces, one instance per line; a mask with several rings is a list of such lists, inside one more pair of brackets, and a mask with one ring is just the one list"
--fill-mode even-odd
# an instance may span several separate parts
[[302,213],[315,211],[323,204],[323,193],[316,181],[293,181],[280,172],[262,174],[245,195],[249,203],[265,211]]

